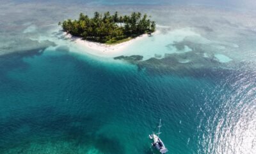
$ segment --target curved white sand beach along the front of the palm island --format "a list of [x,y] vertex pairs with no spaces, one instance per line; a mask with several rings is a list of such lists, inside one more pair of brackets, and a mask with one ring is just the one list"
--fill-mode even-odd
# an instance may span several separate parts
[[74,42],[76,45],[78,45],[78,48],[87,48],[90,50],[83,50],[86,53],[90,53],[91,55],[97,55],[97,56],[109,56],[109,57],[113,57],[113,56],[117,56],[117,55],[122,55],[120,53],[122,53],[122,51],[129,45],[131,45],[131,43],[133,43],[134,41],[138,41],[140,39],[143,38],[147,38],[148,34],[143,34],[141,36],[138,36],[134,39],[131,39],[129,41],[125,41],[123,43],[119,43],[117,45],[105,45],[102,43],[95,43],[92,41],[86,41],[83,40],[79,37],[75,37],[72,36],[70,34],[67,34],[67,32],[65,32],[65,38],[70,39],[72,42]]

